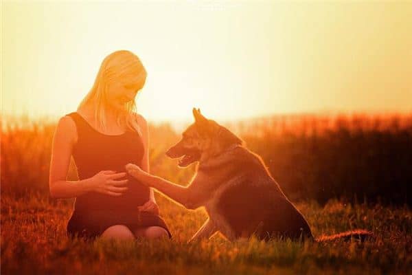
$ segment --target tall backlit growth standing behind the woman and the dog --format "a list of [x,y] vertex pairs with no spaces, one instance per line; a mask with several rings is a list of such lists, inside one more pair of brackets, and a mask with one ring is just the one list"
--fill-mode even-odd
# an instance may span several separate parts
[[[2,192],[48,192],[56,122],[12,120],[1,137]],[[412,183],[411,115],[276,116],[225,124],[264,159],[273,177],[294,199],[325,203],[408,203]],[[180,138],[169,124],[150,124],[151,172],[186,184],[194,165],[179,169],[165,151]],[[76,179],[73,162],[69,177]]]

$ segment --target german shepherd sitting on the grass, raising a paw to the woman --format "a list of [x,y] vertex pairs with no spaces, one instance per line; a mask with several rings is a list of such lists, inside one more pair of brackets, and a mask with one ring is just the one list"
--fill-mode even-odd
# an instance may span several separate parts
[[[198,162],[188,186],[150,175],[135,164],[126,165],[130,175],[185,208],[205,207],[209,218],[190,241],[209,239],[218,231],[230,241],[252,235],[264,240],[313,239],[308,221],[282,192],[262,158],[199,109],[193,108],[193,115],[195,122],[183,131],[182,140],[166,152],[171,158],[182,157],[180,167]],[[323,239],[368,234],[358,230]]]

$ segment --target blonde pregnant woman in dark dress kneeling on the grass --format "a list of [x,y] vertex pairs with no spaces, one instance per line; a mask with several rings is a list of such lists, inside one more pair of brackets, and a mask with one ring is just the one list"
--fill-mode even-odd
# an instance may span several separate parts
[[[58,121],[49,190],[54,198],[76,197],[67,223],[70,237],[172,237],[152,188],[124,170],[131,162],[149,171],[148,126],[135,113],[135,96],[145,81],[146,69],[135,54],[113,52],[77,111]],[[71,155],[79,181],[66,181]]]

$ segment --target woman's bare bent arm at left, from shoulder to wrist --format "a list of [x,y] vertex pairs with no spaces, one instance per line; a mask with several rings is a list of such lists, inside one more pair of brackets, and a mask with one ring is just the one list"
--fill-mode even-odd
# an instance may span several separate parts
[[66,115],[60,118],[54,132],[49,170],[49,192],[55,199],[77,197],[92,190],[91,179],[66,180],[76,135],[73,120]]

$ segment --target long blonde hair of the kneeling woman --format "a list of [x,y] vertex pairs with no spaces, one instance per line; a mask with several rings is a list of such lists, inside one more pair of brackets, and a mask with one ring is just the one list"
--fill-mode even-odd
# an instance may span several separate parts
[[[146,69],[141,64],[139,57],[133,52],[128,50],[113,52],[104,58],[93,87],[78,105],[78,110],[94,100],[94,118],[104,131],[106,129],[106,110],[108,108],[108,85],[113,83],[136,83],[141,78],[146,80],[146,76]],[[126,126],[126,129],[137,131],[141,135],[139,125],[133,115],[135,111],[135,100],[126,102],[124,109],[117,111],[116,122],[119,126]]]

